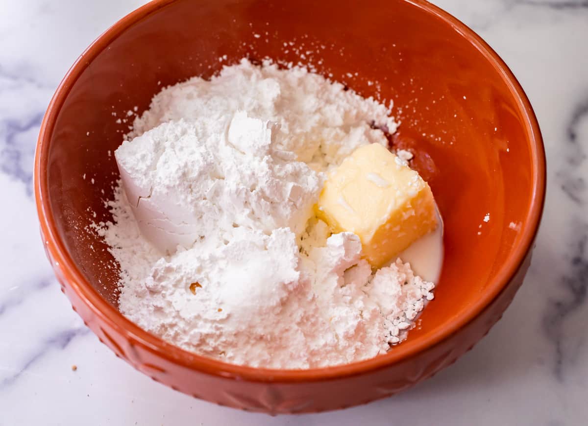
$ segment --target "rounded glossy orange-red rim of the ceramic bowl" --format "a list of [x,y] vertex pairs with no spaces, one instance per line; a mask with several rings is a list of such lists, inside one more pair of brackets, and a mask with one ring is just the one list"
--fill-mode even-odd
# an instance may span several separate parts
[[537,230],[539,229],[539,222],[543,212],[546,192],[546,159],[539,123],[537,122],[537,118],[530,105],[529,99],[524,93],[522,86],[515,78],[515,75],[513,75],[513,72],[510,71],[506,63],[479,35],[459,21],[459,19],[450,15],[448,12],[443,11],[439,7],[430,4],[426,0],[401,0],[422,9],[423,12],[433,15],[434,18],[440,19],[446,24],[449,24],[480,53],[482,53],[486,60],[493,65],[496,71],[502,75],[503,80],[505,80],[505,83],[509,86],[510,92],[519,104],[519,111],[525,119],[527,134],[530,136],[529,143],[532,153],[532,169],[534,170],[534,173],[531,203],[525,220],[527,226],[522,230],[520,243],[515,247],[513,254],[507,259],[505,264],[503,264],[503,267],[500,269],[495,280],[489,284],[488,290],[483,293],[482,297],[480,297],[475,304],[469,306],[462,314],[460,314],[460,316],[456,317],[449,326],[444,327],[442,330],[430,333],[429,336],[414,344],[408,344],[406,346],[400,345],[395,348],[395,350],[390,351],[385,355],[379,355],[375,358],[370,358],[369,360],[337,365],[334,367],[310,368],[308,370],[277,370],[229,364],[183,350],[171,343],[163,341],[161,338],[143,330],[135,323],[132,323],[132,321],[123,316],[119,310],[102,298],[89,281],[83,277],[83,274],[78,269],[71,256],[69,256],[64,241],[59,237],[55,219],[49,204],[48,179],[46,179],[51,136],[54,132],[56,118],[59,115],[65,99],[69,95],[69,91],[81,73],[91,63],[92,59],[96,58],[100,52],[108,48],[108,45],[130,26],[175,1],[176,0],[153,0],[124,16],[92,42],[92,44],[86,48],[75,61],[74,65],[71,66],[64,79],[59,84],[41,123],[41,130],[39,132],[35,152],[34,189],[37,213],[41,224],[41,233],[42,236],[45,237],[43,243],[46,245],[46,249],[51,252],[52,259],[54,259],[56,263],[55,267],[61,270],[65,281],[67,281],[71,289],[81,301],[89,307],[96,317],[99,317],[101,321],[107,323],[110,328],[124,336],[126,340],[132,339],[136,344],[143,346],[143,348],[152,353],[156,353],[159,357],[165,358],[171,363],[179,364],[191,370],[232,380],[247,380],[266,383],[300,383],[332,380],[333,378],[365,374],[406,361],[408,358],[429,350],[453,336],[453,334],[457,333],[461,328],[475,320],[477,316],[482,314],[483,311],[485,311],[486,308],[499,297],[500,293],[502,293],[510,280],[512,280],[513,276],[515,276],[520,269],[527,253],[531,249]]

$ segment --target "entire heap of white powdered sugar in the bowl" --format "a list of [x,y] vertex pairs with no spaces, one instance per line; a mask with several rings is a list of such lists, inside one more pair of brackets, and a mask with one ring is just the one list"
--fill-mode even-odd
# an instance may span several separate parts
[[[372,272],[353,233],[313,217],[323,172],[389,110],[302,68],[247,61],[162,90],[116,151],[121,311],[183,348],[231,363],[309,368],[385,353],[432,283],[397,260]],[[129,200],[131,201],[129,203]],[[197,284],[197,285],[196,285]]]

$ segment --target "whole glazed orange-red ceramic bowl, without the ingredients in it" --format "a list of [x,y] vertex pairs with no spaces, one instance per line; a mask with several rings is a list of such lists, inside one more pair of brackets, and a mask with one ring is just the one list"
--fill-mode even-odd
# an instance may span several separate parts
[[[118,271],[88,230],[111,217],[103,203],[118,178],[111,153],[128,131],[115,120],[148,108],[165,85],[244,56],[300,60],[395,104],[393,145],[416,153],[445,220],[446,256],[419,327],[386,355],[303,371],[242,367],[165,343],[117,309]],[[80,56],[51,100],[35,157],[45,249],[86,325],[153,380],[272,414],[387,397],[469,350],[523,281],[544,190],[539,126],[515,76],[479,36],[422,0],[152,2]]]

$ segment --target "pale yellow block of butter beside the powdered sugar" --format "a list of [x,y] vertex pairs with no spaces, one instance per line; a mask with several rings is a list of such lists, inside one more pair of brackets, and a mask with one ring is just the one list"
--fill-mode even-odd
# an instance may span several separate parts
[[333,232],[356,233],[378,268],[437,227],[429,185],[379,143],[359,147],[329,174],[316,214]]

